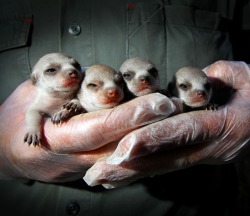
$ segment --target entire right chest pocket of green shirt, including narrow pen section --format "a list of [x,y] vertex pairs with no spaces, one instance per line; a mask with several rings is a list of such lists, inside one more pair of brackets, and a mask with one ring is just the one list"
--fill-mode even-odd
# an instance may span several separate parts
[[157,2],[127,5],[126,56],[153,61],[161,87],[184,66],[232,59],[230,20],[219,13]]

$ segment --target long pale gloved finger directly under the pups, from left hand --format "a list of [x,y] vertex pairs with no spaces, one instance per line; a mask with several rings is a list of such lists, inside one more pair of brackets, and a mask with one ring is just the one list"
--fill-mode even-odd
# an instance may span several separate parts
[[[166,118],[175,111],[172,101],[159,94],[138,97],[113,109],[75,116],[66,124],[45,123],[45,137],[59,153],[89,151],[120,139],[129,131]],[[66,143],[62,146],[61,140]]]

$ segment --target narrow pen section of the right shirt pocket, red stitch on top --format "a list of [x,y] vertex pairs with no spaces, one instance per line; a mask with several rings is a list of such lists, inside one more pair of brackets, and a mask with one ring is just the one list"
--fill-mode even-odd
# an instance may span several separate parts
[[[126,57],[145,57],[165,70],[164,6],[157,2],[127,5]],[[164,82],[163,73],[161,80]]]

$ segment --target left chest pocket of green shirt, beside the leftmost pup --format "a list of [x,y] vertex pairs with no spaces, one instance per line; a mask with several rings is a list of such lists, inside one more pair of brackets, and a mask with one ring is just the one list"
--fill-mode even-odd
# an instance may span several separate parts
[[29,78],[29,45],[32,15],[0,18],[0,103]]

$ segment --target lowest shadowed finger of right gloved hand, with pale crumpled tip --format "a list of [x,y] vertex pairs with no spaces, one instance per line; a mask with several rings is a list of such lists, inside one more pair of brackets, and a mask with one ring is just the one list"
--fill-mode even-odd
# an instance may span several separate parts
[[141,178],[153,177],[195,165],[201,162],[203,151],[201,146],[190,146],[186,151],[173,149],[136,158],[120,165],[108,164],[106,158],[102,158],[86,172],[83,179],[90,186],[102,184],[108,189],[121,187]]

